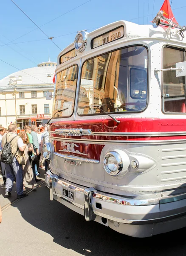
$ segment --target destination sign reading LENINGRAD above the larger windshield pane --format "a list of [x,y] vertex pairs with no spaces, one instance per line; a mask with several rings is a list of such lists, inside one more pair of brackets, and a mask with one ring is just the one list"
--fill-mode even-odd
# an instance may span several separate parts
[[99,47],[104,44],[108,44],[115,40],[118,40],[124,36],[124,27],[120,26],[117,29],[114,29],[110,32],[107,32],[92,41],[92,48]]

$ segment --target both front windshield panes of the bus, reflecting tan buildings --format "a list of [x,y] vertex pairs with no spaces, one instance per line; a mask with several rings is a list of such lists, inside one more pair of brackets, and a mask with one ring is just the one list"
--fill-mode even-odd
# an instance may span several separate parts
[[[57,74],[55,117],[71,116],[77,85],[75,64]],[[127,47],[85,61],[79,90],[79,115],[139,111],[147,102],[147,49]],[[94,105],[101,105],[100,109]]]

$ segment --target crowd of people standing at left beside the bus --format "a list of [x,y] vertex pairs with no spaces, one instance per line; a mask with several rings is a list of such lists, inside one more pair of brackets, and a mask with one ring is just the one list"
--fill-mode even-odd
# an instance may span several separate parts
[[[48,170],[48,161],[42,155],[42,145],[49,141],[49,125],[28,126],[17,134],[17,126],[11,124],[8,130],[0,126],[0,168],[5,186],[5,198],[11,196],[13,183],[16,181],[17,198],[23,198],[28,194],[25,185],[31,185],[36,189],[40,181],[39,168]],[[3,159],[3,148],[11,146],[13,161],[6,163]],[[5,150],[4,150],[5,151]],[[44,166],[45,162],[45,166]]]

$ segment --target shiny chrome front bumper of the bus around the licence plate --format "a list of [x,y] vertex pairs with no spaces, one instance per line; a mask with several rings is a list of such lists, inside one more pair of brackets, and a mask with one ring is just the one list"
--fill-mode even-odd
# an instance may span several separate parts
[[[50,189],[50,199],[58,200],[67,207],[81,213],[87,221],[97,216],[119,224],[155,224],[181,217],[186,213],[186,195],[153,199],[124,198],[98,192],[93,187],[85,188],[53,175],[50,170],[45,176]],[[63,195],[63,188],[74,193],[74,200]],[[60,198],[60,200],[59,200]],[[177,200],[175,201],[175,198]],[[71,206],[70,206],[71,204]],[[185,205],[185,206],[184,206]],[[77,210],[79,209],[79,210]],[[131,226],[131,225],[130,225]],[[145,225],[144,225],[145,226]]]

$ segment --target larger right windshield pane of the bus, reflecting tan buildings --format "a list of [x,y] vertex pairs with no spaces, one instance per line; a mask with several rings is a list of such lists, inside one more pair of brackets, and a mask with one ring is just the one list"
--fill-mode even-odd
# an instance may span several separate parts
[[128,47],[85,61],[78,113],[141,111],[147,104],[147,49]]

